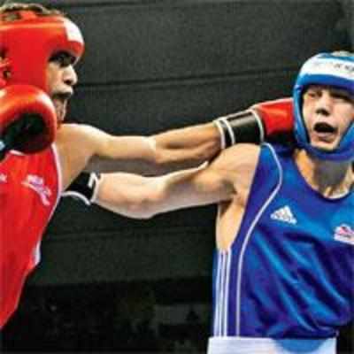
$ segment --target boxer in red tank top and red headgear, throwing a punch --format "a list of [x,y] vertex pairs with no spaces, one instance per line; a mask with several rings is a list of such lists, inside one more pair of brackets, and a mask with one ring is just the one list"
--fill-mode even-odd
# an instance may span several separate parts
[[[91,158],[200,163],[292,127],[289,100],[144,136],[64,124],[84,51],[80,29],[38,4],[0,7],[0,327],[11,317],[59,197]],[[95,181],[92,181],[95,184]]]

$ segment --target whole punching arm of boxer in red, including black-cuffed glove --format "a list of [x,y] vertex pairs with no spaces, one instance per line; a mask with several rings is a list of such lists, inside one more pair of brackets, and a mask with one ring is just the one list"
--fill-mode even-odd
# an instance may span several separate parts
[[[57,144],[63,169],[64,188],[88,165],[91,158],[114,160],[108,171],[156,175],[200,165],[220,149],[236,142],[259,143],[292,128],[289,99],[252,106],[212,123],[143,136],[112,136],[94,127],[65,125],[59,129]],[[120,165],[117,163],[120,162]],[[128,166],[121,163],[128,163]],[[102,165],[89,170],[107,171]]]

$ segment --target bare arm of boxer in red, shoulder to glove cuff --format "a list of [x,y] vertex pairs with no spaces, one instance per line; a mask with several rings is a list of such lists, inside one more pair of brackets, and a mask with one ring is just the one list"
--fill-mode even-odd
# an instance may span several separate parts
[[219,140],[212,123],[150,137],[114,136],[95,127],[67,124],[59,129],[56,143],[66,189],[84,168],[107,172],[108,160],[112,161],[108,172],[144,175],[200,165],[219,151]]

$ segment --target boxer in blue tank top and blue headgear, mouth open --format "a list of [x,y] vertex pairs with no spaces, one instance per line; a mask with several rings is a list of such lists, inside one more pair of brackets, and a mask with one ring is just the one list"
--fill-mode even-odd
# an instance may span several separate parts
[[306,61],[296,147],[239,143],[161,177],[104,174],[95,203],[123,215],[219,203],[209,354],[334,354],[354,318],[354,56]]

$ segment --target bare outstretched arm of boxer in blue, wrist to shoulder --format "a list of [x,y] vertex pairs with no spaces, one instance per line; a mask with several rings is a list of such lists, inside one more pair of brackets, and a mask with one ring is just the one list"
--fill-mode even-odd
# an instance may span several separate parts
[[131,218],[146,219],[161,212],[245,198],[258,160],[257,146],[225,150],[211,165],[143,177],[105,173],[96,185],[94,202]]

